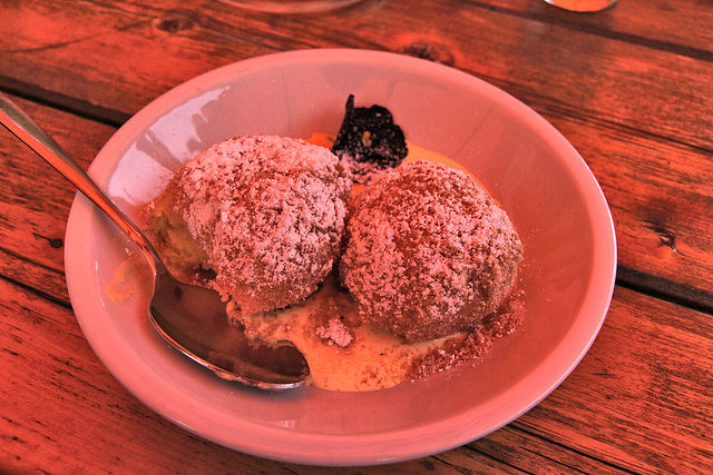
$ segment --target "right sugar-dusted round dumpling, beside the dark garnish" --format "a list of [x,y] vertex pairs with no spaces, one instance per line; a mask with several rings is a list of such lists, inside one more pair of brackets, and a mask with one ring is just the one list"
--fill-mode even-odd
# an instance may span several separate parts
[[512,287],[521,243],[467,174],[413,161],[350,204],[341,278],[367,323],[409,340],[472,328]]

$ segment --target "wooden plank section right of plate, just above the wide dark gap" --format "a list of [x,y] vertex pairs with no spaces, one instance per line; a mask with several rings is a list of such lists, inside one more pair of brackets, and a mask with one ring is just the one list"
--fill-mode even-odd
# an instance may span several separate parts
[[[602,185],[631,283],[680,285],[676,296],[713,306],[712,154],[648,135],[544,112],[580,151]],[[695,289],[703,293],[696,293]],[[660,291],[666,291],[660,288]]]

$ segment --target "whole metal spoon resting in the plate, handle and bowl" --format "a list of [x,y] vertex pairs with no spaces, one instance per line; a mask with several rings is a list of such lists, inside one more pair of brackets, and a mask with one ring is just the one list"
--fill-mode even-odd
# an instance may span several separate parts
[[156,330],[175,348],[217,376],[262,389],[304,384],[307,365],[292,345],[248,340],[228,321],[218,293],[187,285],[170,275],[156,249],[117,205],[31,118],[0,93],[0,122],[72,182],[136,243],[154,274],[148,314]]

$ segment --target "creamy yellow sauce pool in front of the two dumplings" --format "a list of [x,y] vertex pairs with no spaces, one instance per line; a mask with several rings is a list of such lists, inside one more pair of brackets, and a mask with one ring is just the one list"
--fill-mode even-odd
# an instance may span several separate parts
[[329,390],[373,390],[412,379],[416,362],[465,337],[407,344],[364,325],[356,304],[332,275],[320,290],[287,309],[245,316],[228,305],[228,316],[245,325],[250,338],[291,342],[310,365],[307,384]]

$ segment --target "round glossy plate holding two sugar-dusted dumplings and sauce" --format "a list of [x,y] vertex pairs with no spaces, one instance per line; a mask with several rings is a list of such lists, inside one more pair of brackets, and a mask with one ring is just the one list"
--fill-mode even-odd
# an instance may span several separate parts
[[77,320],[111,374],[153,410],[204,438],[302,464],[371,465],[466,444],[517,418],[588,350],[614,288],[606,200],[570,144],[506,92],[455,69],[361,50],[257,57],[197,77],[126,122],[89,174],[134,218],[170,172],[236,136],[336,132],[350,93],[388,107],[416,145],[465,165],[525,244],[526,317],[476,365],[370,393],[267,393],[216,378],[157,336],[148,295],[105,293],[133,248],[84,197],[67,226]]

